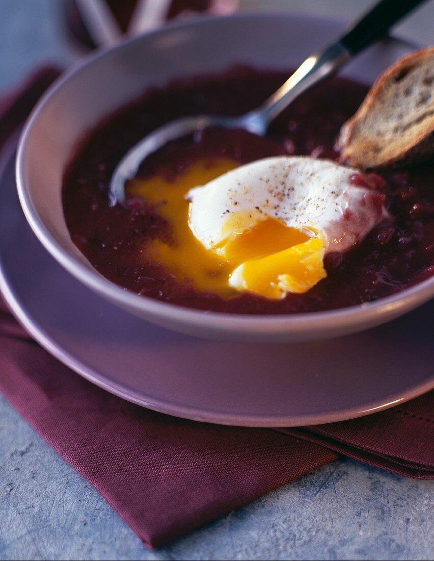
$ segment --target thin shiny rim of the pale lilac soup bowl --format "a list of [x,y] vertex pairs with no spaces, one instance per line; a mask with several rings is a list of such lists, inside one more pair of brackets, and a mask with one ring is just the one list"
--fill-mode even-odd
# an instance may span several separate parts
[[[330,329],[334,326],[345,327],[346,325],[349,326],[358,322],[365,323],[383,314],[387,314],[387,312],[398,311],[400,309],[407,311],[407,309],[413,309],[423,304],[434,296],[434,276],[421,280],[421,282],[414,284],[414,286],[405,288],[402,292],[380,298],[374,302],[366,302],[344,308],[318,312],[298,312],[296,314],[235,314],[189,308],[178,304],[172,304],[171,302],[157,300],[156,298],[138,295],[106,279],[97,272],[96,269],[88,268],[85,264],[71,256],[68,251],[60,245],[49,232],[38,214],[32,201],[31,190],[27,187],[26,183],[25,162],[27,158],[27,143],[32,129],[38,122],[39,116],[41,112],[43,112],[45,106],[50,103],[50,100],[55,96],[57,91],[63,88],[74,75],[92,65],[100,58],[109,56],[111,52],[128,48],[130,44],[141,42],[145,37],[159,37],[169,34],[174,30],[184,28],[190,29],[198,25],[220,25],[227,19],[242,21],[263,19],[264,17],[271,17],[272,19],[286,17],[292,20],[298,19],[299,21],[338,21],[318,16],[295,15],[282,11],[241,12],[225,16],[201,16],[193,21],[171,22],[161,29],[150,31],[133,38],[123,39],[110,48],[97,49],[96,52],[74,62],[66,72],[63,72],[48,90],[45,91],[32,110],[20,135],[15,169],[18,196],[27,222],[29,222],[32,231],[36,234],[36,237],[39,238],[39,241],[43,244],[45,249],[48,250],[69,273],[74,275],[78,280],[81,280],[86,286],[109,300],[116,302],[116,304],[122,307],[126,306],[129,310],[134,309],[141,312],[141,314],[151,314],[154,318],[158,317],[163,320],[173,321],[176,319],[176,323],[178,324],[194,324],[195,327],[199,328],[209,328],[212,325],[214,329],[225,331],[238,331],[242,329],[245,333],[254,333],[262,329],[269,331],[269,329],[273,327],[277,332],[282,332],[283,330],[306,332],[312,328],[318,328],[320,325],[324,325],[324,322],[327,323]],[[410,48],[418,48],[417,45],[407,40],[401,40],[395,37],[389,37],[386,40],[398,42]]]

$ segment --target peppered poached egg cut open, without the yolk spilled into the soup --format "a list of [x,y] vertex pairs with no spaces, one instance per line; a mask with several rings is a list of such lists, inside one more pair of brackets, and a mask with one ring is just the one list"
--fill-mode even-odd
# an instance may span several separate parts
[[228,284],[267,298],[309,290],[326,277],[326,253],[347,251],[387,214],[367,176],[310,157],[256,160],[186,199],[195,238],[239,263]]

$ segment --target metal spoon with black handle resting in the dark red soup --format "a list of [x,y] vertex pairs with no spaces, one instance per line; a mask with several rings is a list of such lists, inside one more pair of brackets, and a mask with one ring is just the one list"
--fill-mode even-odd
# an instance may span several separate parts
[[143,160],[167,142],[203,131],[207,127],[242,128],[264,135],[270,122],[313,85],[331,76],[344,63],[384,36],[391,26],[425,0],[382,0],[335,43],[307,58],[263,105],[239,117],[202,115],[167,123],[144,137],[120,160],[110,182],[110,204],[125,201],[125,182],[136,176]]

